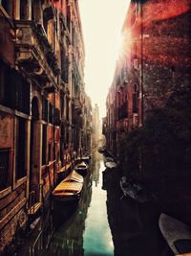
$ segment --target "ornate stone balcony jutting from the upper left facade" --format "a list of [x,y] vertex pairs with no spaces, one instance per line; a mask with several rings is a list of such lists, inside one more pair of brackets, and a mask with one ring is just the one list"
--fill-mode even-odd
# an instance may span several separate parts
[[30,20],[15,21],[17,63],[40,84],[56,84],[60,74],[57,58],[40,24]]

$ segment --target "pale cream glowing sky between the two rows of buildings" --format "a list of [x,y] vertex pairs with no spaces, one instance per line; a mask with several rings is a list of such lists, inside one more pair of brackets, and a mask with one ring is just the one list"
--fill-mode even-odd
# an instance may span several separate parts
[[79,0],[85,42],[85,86],[92,105],[105,116],[108,88],[114,77],[120,32],[129,0]]

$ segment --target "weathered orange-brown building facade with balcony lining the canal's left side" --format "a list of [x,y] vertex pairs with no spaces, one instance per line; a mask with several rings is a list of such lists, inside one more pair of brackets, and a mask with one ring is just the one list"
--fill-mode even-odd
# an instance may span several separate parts
[[77,1],[0,1],[0,45],[1,253],[85,149]]

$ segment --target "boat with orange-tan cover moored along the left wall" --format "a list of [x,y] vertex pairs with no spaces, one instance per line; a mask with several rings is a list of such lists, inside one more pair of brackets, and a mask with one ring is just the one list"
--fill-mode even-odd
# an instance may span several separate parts
[[53,198],[60,201],[73,201],[80,198],[83,177],[73,171],[53,190]]

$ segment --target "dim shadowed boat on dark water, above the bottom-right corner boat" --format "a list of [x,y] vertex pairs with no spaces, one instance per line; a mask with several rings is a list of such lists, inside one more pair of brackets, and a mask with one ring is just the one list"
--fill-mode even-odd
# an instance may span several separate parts
[[132,198],[138,202],[156,201],[157,197],[138,182],[130,182],[126,176],[120,179],[120,188],[127,198]]

